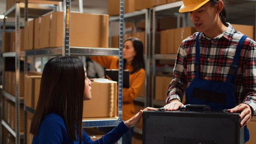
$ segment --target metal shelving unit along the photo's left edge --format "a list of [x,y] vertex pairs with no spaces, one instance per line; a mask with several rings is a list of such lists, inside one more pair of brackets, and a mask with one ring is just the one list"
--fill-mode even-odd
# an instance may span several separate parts
[[[9,93],[3,91],[1,89],[1,95],[5,98],[11,100],[15,103],[16,109],[16,131],[14,131],[10,126],[2,120],[2,108],[1,108],[1,116],[0,116],[0,144],[2,144],[2,126],[7,128],[7,130],[15,137],[16,144],[21,143],[21,139],[24,139],[24,133],[20,132],[20,104],[23,104],[23,98],[20,98],[20,57],[24,56],[24,52],[20,51],[20,26],[21,17],[28,16],[26,10],[29,9],[30,15],[29,17],[37,17],[42,14],[46,14],[48,12],[56,10],[56,5],[46,5],[46,4],[28,4],[27,0],[25,3],[16,2],[14,6],[8,9],[4,15],[8,17],[15,17],[15,52],[6,52],[1,53],[1,64],[2,64],[2,83],[3,84],[3,71],[5,68],[5,58],[6,57],[15,57],[15,96],[10,95]],[[3,23],[3,30],[5,31],[5,19]],[[1,51],[2,52],[2,51]],[[2,88],[2,86],[1,86]],[[2,107],[3,97],[1,96],[1,107]]]

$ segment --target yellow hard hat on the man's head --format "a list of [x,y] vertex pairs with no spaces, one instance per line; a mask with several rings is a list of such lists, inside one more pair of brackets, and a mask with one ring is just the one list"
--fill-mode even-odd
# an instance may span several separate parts
[[194,11],[209,1],[210,0],[182,0],[182,6],[179,8],[179,12]]

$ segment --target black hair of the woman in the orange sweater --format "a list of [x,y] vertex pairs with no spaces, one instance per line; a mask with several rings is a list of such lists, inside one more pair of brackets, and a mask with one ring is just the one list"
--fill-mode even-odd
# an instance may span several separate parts
[[[145,62],[144,62],[144,57],[143,57],[143,44],[140,41],[140,39],[135,38],[135,37],[129,37],[124,41],[131,41],[133,42],[133,47],[136,52],[136,55],[134,56],[131,65],[133,66],[133,71],[130,72],[130,74],[133,74],[134,72],[139,71],[140,69],[145,69]],[[123,65],[126,65],[126,59],[123,60]]]

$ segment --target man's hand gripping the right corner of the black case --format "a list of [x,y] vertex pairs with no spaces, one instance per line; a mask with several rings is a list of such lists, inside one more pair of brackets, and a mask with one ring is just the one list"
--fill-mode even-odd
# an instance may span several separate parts
[[243,120],[240,122],[241,128],[243,128],[251,120],[251,107],[247,104],[240,104],[234,107],[233,109],[228,109],[230,113],[241,112],[240,119]]

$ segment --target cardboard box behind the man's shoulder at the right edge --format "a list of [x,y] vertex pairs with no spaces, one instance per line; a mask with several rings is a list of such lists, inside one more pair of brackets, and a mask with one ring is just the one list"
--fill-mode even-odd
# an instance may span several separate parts
[[235,30],[240,31],[247,37],[255,39],[254,26],[231,24]]

